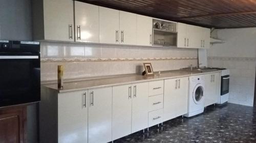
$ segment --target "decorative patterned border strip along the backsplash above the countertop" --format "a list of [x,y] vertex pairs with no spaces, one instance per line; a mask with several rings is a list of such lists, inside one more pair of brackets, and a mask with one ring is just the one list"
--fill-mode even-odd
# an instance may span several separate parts
[[181,58],[41,58],[41,62],[110,62],[110,61],[162,61],[162,60],[197,60],[197,57]]

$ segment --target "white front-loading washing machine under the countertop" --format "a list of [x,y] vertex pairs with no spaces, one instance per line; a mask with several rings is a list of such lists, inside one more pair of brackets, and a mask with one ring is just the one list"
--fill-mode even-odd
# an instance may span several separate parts
[[195,116],[204,111],[204,80],[204,75],[189,77],[188,105],[185,117]]

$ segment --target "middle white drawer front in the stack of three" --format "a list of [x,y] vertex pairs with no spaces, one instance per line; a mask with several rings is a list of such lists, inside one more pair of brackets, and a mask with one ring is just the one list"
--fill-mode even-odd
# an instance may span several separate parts
[[163,94],[149,97],[148,111],[154,111],[162,108],[163,108]]

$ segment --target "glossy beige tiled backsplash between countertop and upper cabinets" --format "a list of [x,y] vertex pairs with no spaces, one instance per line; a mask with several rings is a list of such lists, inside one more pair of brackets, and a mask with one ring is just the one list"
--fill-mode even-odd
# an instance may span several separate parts
[[44,81],[57,79],[57,65],[65,67],[65,78],[79,78],[135,73],[146,62],[154,71],[196,66],[197,49],[41,42]]

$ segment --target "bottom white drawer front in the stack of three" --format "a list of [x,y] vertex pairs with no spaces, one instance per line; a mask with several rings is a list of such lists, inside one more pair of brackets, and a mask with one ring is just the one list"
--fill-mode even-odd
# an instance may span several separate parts
[[163,109],[148,112],[148,127],[160,124],[163,122]]

